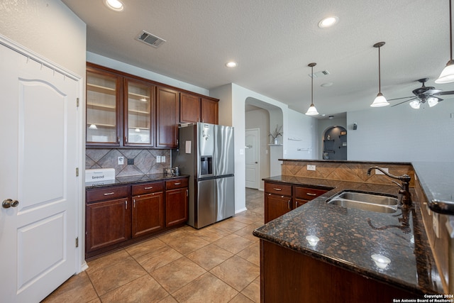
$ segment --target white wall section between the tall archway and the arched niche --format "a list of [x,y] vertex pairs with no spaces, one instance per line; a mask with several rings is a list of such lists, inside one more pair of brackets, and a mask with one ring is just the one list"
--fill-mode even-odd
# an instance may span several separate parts
[[289,109],[289,121],[291,127],[287,131],[287,153],[286,159],[316,159],[317,138],[316,124],[317,120],[311,116],[306,116],[298,111]]

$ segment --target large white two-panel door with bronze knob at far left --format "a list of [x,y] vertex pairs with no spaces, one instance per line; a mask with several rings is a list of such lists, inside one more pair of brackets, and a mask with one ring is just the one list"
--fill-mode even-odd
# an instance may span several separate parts
[[0,44],[1,302],[40,302],[77,271],[78,87],[48,66]]

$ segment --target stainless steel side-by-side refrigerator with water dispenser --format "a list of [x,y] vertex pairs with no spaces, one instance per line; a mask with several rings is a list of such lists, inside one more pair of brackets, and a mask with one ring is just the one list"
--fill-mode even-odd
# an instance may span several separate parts
[[180,127],[173,163],[190,176],[190,226],[202,228],[235,214],[233,127],[209,123]]

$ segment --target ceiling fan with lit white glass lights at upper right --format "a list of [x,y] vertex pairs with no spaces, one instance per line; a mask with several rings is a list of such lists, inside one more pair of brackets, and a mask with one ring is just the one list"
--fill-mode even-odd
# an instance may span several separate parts
[[403,104],[405,102],[411,101],[409,105],[412,109],[419,109],[421,104],[425,104],[427,102],[428,106],[436,106],[438,102],[443,101],[443,99],[439,98],[438,96],[442,96],[445,94],[454,94],[454,91],[443,92],[441,89],[435,89],[435,87],[426,87],[424,83],[426,83],[428,78],[419,79],[418,82],[422,83],[422,86],[414,89],[413,94],[414,96],[410,97],[402,97],[396,99],[389,99],[388,101],[392,100],[401,100],[401,99],[408,99],[402,101],[398,104],[394,104],[393,106],[397,106],[399,104]]

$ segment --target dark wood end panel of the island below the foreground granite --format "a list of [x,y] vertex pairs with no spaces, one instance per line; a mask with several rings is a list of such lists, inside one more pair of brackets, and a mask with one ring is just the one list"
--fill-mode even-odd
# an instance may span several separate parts
[[417,294],[260,239],[260,302],[394,302]]

